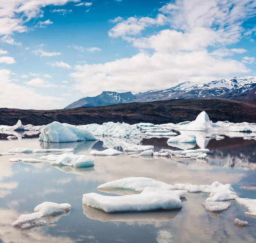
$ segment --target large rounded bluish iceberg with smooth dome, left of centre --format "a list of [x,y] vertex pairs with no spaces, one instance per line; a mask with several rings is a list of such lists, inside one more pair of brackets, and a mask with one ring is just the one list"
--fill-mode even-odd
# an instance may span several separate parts
[[87,129],[67,123],[53,122],[42,129],[39,140],[50,143],[67,143],[96,140],[96,138]]

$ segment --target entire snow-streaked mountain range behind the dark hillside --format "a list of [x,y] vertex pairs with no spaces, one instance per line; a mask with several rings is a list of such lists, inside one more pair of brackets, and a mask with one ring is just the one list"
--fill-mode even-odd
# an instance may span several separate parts
[[150,90],[132,94],[104,91],[96,97],[82,98],[66,108],[81,106],[105,106],[126,102],[148,102],[156,100],[189,99],[189,98],[227,98],[239,100],[256,100],[256,77],[234,77],[209,83],[186,81],[164,90]]

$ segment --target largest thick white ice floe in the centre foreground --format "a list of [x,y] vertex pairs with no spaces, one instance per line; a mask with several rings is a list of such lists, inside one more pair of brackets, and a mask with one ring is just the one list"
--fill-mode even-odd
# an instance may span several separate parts
[[186,191],[169,191],[147,187],[140,194],[117,197],[88,193],[83,195],[82,202],[107,213],[168,210],[182,208],[180,197],[185,195]]

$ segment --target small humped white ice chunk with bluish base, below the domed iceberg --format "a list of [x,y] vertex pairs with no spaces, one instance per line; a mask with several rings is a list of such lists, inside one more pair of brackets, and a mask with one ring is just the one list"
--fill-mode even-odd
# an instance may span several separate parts
[[57,160],[50,163],[51,166],[74,166],[90,167],[94,166],[94,160],[85,155],[61,154]]

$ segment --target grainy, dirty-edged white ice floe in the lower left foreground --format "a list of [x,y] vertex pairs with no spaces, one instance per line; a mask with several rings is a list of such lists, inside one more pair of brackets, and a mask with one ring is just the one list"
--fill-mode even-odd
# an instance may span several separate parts
[[34,213],[20,215],[12,225],[20,229],[55,226],[52,223],[58,221],[63,215],[68,215],[70,207],[68,203],[44,202],[35,207]]

